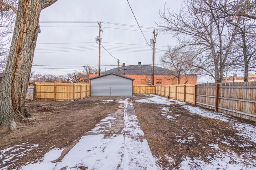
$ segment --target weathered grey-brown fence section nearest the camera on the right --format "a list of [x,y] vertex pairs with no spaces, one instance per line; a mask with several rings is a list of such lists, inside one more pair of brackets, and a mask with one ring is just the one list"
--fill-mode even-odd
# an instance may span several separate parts
[[256,121],[256,82],[198,84],[196,104]]

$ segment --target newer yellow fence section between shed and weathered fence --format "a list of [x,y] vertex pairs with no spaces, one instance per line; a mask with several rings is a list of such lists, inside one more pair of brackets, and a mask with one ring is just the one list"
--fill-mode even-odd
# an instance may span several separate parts
[[133,86],[134,94],[157,94],[159,96],[195,104],[196,85]]

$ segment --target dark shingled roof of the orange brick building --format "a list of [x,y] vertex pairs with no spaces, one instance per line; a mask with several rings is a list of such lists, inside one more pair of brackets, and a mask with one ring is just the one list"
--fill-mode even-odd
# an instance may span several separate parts
[[[102,72],[102,74],[115,73],[117,74],[118,68],[113,68],[107,71]],[[167,71],[170,71],[166,68],[155,66],[155,75],[166,75]],[[119,67],[119,74],[152,74],[152,66],[150,65],[129,65]]]

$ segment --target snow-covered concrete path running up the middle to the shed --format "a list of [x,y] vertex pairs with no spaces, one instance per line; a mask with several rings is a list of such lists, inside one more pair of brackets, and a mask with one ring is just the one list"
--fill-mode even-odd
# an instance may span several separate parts
[[[111,100],[104,102],[112,102]],[[53,149],[46,153],[41,162],[28,164],[23,170],[78,169],[89,170],[157,170],[144,133],[140,128],[135,110],[130,100],[118,100],[122,108],[108,117],[91,131],[63,157],[57,159],[63,149]]]

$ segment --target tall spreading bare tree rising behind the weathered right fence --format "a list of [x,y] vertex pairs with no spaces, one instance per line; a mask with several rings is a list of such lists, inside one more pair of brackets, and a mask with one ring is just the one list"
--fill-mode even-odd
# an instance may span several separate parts
[[228,69],[228,55],[238,32],[236,25],[241,20],[241,17],[226,16],[220,4],[225,6],[228,0],[184,0],[180,11],[167,9],[160,13],[165,21],[160,24],[162,31],[172,33],[182,47],[193,51],[193,66],[215,82],[222,82]]

